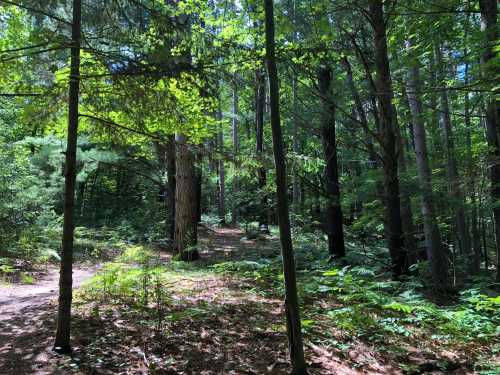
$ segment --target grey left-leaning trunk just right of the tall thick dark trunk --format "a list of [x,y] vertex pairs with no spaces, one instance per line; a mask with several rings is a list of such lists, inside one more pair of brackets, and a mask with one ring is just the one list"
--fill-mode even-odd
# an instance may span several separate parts
[[[407,48],[411,45],[407,42]],[[408,100],[413,117],[413,132],[415,136],[415,155],[417,161],[418,177],[420,180],[422,218],[424,222],[424,235],[427,258],[431,263],[432,278],[436,288],[444,288],[448,282],[448,264],[441,245],[441,234],[436,220],[431,169],[427,153],[425,126],[423,123],[422,102],[419,98],[419,68],[413,64],[408,77]]]

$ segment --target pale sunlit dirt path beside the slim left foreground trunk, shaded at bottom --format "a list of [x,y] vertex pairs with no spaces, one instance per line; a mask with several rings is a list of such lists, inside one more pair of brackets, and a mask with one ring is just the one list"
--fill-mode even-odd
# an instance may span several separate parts
[[[73,271],[78,288],[96,267]],[[48,268],[34,285],[0,284],[0,374],[57,374],[47,368],[57,310],[59,270]]]

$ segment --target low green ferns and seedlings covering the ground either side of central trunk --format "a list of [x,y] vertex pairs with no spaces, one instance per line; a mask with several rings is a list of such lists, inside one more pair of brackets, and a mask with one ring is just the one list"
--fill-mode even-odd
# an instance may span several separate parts
[[[176,298],[189,295],[196,282],[209,277],[246,280],[239,284],[246,288],[245,293],[272,298],[284,294],[279,251],[263,256],[254,249],[244,259],[207,264],[166,262],[143,245],[123,246],[123,253],[84,287],[81,298],[133,308],[142,314],[146,326],[156,327],[155,332],[164,333],[161,327],[168,322],[214,314],[216,306],[210,304],[176,309],[178,299],[172,298],[174,291]],[[484,288],[478,283],[465,288],[455,303],[440,306],[426,297],[418,278],[393,281],[384,264],[357,262],[365,251],[374,257],[386,251],[382,247],[360,253],[353,250],[352,264],[345,265],[329,261],[323,246],[317,236],[296,236],[298,289],[307,341],[321,342],[341,353],[356,340],[363,341],[398,360],[407,343],[420,350],[475,348],[470,353],[474,357],[470,366],[482,374],[495,373],[491,358],[500,351],[500,297],[487,283]],[[96,306],[99,309],[99,304]],[[452,368],[447,362],[440,366]],[[410,366],[406,370],[412,373],[415,369]]]

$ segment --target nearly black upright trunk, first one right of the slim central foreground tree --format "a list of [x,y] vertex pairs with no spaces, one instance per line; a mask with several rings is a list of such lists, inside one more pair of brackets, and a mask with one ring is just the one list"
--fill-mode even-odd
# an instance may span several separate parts
[[335,131],[335,104],[331,96],[332,69],[322,65],[318,71],[318,86],[321,97],[321,141],[325,158],[325,191],[327,194],[325,230],[328,236],[328,251],[335,257],[345,256],[342,206],[337,162],[337,139]]

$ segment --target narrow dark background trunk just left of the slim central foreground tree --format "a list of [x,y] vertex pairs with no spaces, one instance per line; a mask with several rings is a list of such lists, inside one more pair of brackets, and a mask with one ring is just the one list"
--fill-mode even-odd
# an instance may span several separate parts
[[256,83],[256,103],[255,103],[255,130],[256,130],[256,151],[259,167],[257,170],[259,190],[261,197],[261,207],[259,211],[259,229],[263,233],[269,233],[268,228],[268,201],[266,193],[267,174],[264,166],[264,107],[266,105],[266,85],[265,75],[262,71],[255,72]]

